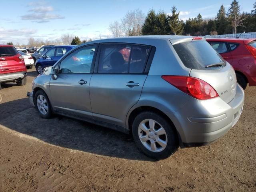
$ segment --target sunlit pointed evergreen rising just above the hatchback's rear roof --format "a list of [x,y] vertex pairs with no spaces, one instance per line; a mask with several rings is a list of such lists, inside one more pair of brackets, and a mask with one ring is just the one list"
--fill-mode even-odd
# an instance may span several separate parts
[[172,16],[168,16],[168,23],[172,32],[176,35],[181,35],[184,29],[183,21],[179,20],[180,12],[176,12],[177,9],[175,6],[172,7]]

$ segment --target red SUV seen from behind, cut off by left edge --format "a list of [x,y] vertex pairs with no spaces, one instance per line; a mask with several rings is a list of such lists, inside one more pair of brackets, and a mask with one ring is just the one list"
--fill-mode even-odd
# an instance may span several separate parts
[[14,46],[0,44],[0,83],[16,82],[17,85],[25,85],[26,75],[23,56]]

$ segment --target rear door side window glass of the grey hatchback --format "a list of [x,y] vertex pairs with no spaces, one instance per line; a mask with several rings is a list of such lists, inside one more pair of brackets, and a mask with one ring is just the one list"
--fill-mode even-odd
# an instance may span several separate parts
[[99,73],[143,73],[150,47],[131,44],[102,44]]

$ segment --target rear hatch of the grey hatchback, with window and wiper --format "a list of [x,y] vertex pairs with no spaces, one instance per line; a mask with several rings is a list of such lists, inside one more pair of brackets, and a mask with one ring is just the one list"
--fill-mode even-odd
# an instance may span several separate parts
[[236,74],[203,38],[170,40],[182,63],[190,68],[190,76],[210,84],[225,102],[236,95]]

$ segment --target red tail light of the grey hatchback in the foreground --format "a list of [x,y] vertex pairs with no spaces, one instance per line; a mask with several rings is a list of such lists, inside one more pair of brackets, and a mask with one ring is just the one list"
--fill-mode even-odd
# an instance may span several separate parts
[[219,96],[212,86],[198,78],[170,75],[162,75],[162,78],[184,93],[199,100],[206,100]]

